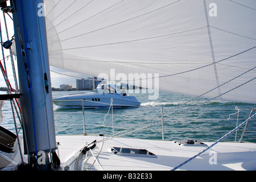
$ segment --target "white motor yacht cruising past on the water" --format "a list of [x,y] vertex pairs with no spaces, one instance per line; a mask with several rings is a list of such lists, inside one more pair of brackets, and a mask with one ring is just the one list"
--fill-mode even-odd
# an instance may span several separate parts
[[[79,93],[53,99],[54,104],[63,106],[108,107],[139,106],[141,102],[134,96],[127,95],[120,85],[99,84],[90,93]],[[83,102],[83,103],[82,103]]]

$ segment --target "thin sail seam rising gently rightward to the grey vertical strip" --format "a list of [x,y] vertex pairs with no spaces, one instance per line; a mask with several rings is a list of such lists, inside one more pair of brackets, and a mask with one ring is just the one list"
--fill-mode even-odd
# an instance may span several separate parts
[[[115,42],[115,43],[107,43],[107,44],[99,44],[99,45],[94,45],[94,46],[67,48],[67,49],[62,49],[62,50],[80,49],[80,48],[90,48],[90,47],[99,47],[99,46],[109,46],[109,45],[114,45],[114,44],[123,44],[123,43],[137,42],[137,41],[141,41],[141,40],[156,39],[156,38],[162,38],[162,37],[165,37],[165,36],[183,34],[183,33],[186,33],[186,32],[195,31],[195,30],[199,30],[199,29],[201,29],[201,28],[206,28],[206,27],[207,27],[207,26],[203,26],[203,27],[194,28],[194,29],[191,29],[191,30],[185,30],[185,31],[175,32],[175,33],[166,34],[166,35],[158,35],[158,36],[153,36],[153,37],[149,37],[149,38],[142,38],[142,39],[135,39],[135,40],[127,40],[127,41],[123,41],[123,42]],[[62,42],[62,40],[61,40],[60,42]]]

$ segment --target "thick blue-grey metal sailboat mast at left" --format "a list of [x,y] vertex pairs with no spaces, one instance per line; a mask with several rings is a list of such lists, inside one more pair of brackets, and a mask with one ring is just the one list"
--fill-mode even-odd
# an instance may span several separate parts
[[[43,1],[11,0],[26,154],[56,150]],[[26,148],[26,147],[25,147]],[[41,154],[40,153],[40,154]],[[50,155],[51,156],[51,155]]]

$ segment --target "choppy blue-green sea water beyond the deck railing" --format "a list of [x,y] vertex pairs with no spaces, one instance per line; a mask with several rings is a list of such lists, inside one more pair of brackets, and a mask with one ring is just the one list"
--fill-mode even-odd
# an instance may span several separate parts
[[[165,92],[159,92],[157,100],[149,100],[149,94],[142,93],[142,90],[139,92],[129,94],[137,97],[141,106],[114,107],[113,112],[109,107],[85,109],[86,134],[104,134],[106,136],[114,134],[116,137],[162,140],[163,118],[165,140],[194,139],[202,142],[215,142],[245,121],[249,117],[251,109],[256,107],[253,104],[229,101],[212,100],[207,102],[203,98],[191,101],[193,97]],[[74,93],[81,93],[81,91],[53,92],[53,97]],[[236,108],[239,109],[239,117],[238,114],[234,114],[238,111]],[[56,135],[83,134],[81,107],[54,104],[53,109]],[[5,101],[2,114],[3,121],[0,125],[15,133],[10,101]],[[256,118],[249,122],[243,141],[256,142],[255,121]],[[223,141],[239,140],[243,128],[244,126]]]

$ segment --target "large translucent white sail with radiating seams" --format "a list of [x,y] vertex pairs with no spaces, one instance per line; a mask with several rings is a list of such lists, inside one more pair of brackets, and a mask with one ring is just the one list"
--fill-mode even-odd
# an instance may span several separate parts
[[45,7],[53,67],[111,80],[138,73],[167,92],[256,103],[253,0],[48,0]]

